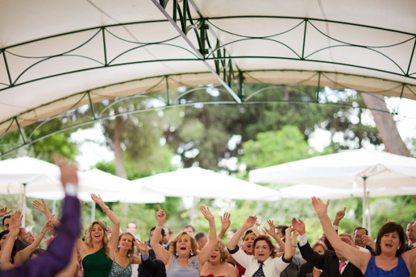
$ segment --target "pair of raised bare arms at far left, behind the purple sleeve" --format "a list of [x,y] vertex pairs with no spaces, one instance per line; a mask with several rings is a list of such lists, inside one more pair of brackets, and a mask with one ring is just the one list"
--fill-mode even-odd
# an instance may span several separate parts
[[[54,217],[54,215],[52,215],[52,217]],[[15,267],[15,265],[21,265],[25,260],[28,260],[29,256],[31,256],[31,253],[39,246],[40,242],[42,242],[42,239],[44,238],[46,232],[49,231],[49,229],[51,229],[52,217],[48,221],[46,221],[42,229],[40,229],[40,233],[39,235],[37,235],[33,244],[17,252],[16,238],[17,235],[19,235],[20,222],[23,218],[23,215],[21,215],[20,211],[17,211],[14,215],[10,217],[9,238],[6,244],[3,246],[3,249],[1,249],[1,269],[12,269]]]

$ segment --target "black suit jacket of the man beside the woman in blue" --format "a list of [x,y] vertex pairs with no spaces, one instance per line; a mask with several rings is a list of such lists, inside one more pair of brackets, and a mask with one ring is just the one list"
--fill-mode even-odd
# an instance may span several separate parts
[[[297,245],[299,245],[299,243]],[[320,255],[312,250],[309,242],[303,247],[299,247],[299,249],[305,260],[307,260],[314,267],[322,269],[321,277],[363,277],[361,270],[351,262],[348,263],[343,271],[343,274],[340,275],[340,271],[338,269],[340,262],[334,251],[327,250],[323,255]]]

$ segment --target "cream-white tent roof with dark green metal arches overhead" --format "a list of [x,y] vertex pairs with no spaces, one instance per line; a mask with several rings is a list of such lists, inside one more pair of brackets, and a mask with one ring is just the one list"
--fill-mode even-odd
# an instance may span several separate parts
[[239,80],[416,99],[413,0],[184,0],[176,14],[173,3],[3,1],[0,135],[166,86],[222,84],[236,103],[258,100]]

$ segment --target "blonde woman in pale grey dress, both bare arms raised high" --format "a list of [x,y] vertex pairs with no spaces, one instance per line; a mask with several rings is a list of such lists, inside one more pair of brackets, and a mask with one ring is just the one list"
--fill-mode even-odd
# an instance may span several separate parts
[[172,240],[169,250],[159,244],[163,224],[166,220],[166,213],[157,206],[159,211],[156,213],[157,226],[150,239],[150,245],[166,267],[167,277],[199,277],[202,265],[207,262],[216,247],[216,229],[214,215],[209,208],[200,206],[200,211],[209,222],[209,242],[198,251],[198,244],[195,238],[191,237],[186,231],[177,234]]

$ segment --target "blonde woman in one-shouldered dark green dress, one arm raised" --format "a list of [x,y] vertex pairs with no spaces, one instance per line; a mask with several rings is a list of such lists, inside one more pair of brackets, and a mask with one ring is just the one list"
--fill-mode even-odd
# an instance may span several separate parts
[[99,195],[92,194],[91,198],[111,220],[113,233],[109,240],[107,228],[103,222],[96,220],[89,225],[85,242],[76,240],[76,249],[83,261],[84,277],[108,277],[119,239],[120,221]]

